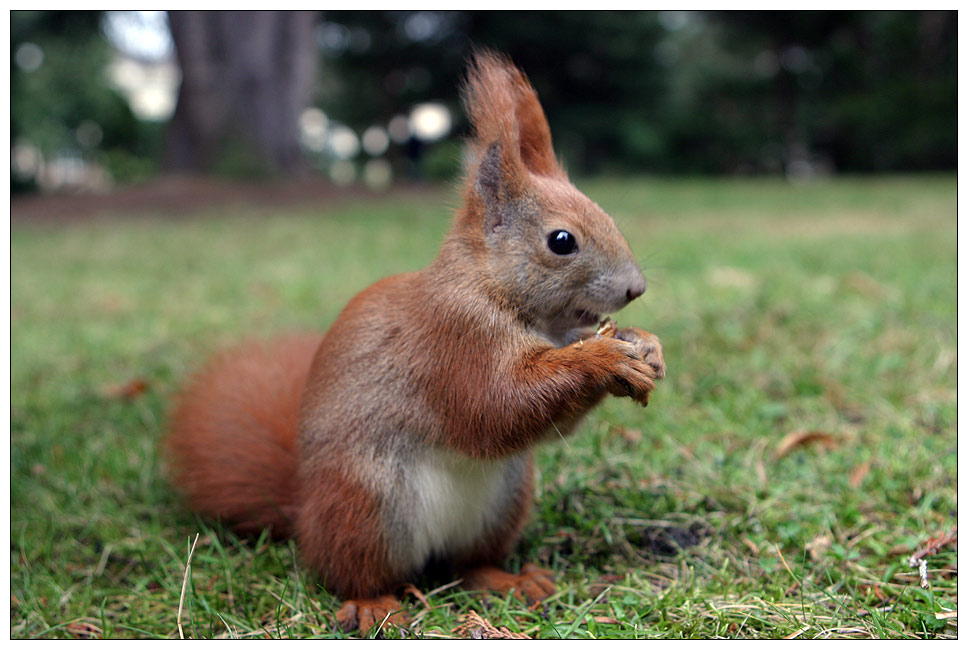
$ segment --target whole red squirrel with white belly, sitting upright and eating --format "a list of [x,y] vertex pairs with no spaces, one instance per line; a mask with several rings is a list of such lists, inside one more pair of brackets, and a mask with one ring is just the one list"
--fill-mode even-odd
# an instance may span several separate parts
[[230,349],[181,391],[174,485],[240,532],[295,536],[344,599],[344,629],[403,621],[394,589],[430,561],[529,601],[550,572],[498,568],[532,500],[532,448],[607,394],[646,404],[658,339],[596,331],[646,289],[615,223],[559,165],[538,97],[477,52],[463,205],[438,257],[350,300],[325,335]]

